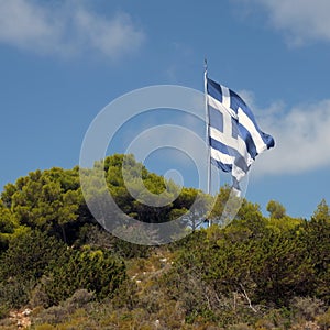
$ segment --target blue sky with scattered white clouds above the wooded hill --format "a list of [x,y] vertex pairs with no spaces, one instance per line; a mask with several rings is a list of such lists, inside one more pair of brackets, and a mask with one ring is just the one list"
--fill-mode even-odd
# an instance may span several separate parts
[[[240,92],[276,141],[253,164],[246,198],[309,218],[330,200],[329,11],[328,0],[0,0],[0,186],[77,165],[90,122],[125,92],[202,91],[207,56],[209,76]],[[110,152],[123,151],[120,140]],[[173,157],[146,165],[163,174]],[[190,165],[186,185],[196,184]]]

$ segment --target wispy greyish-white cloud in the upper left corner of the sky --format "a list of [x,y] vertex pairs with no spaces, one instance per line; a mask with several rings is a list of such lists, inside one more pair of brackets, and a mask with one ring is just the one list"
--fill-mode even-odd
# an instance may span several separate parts
[[32,0],[0,0],[0,42],[63,57],[94,51],[110,59],[141,46],[144,34],[129,14],[106,18],[82,3],[64,1],[52,7]]

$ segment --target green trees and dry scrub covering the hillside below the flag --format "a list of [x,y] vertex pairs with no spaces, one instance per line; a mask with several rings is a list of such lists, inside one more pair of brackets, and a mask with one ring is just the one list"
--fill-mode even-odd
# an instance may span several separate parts
[[[130,161],[154,194],[174,183]],[[329,329],[330,209],[296,219],[275,200],[268,217],[248,200],[221,226],[230,189],[187,213],[197,194],[183,188],[162,207],[136,201],[122,177],[123,155],[99,162],[120,208],[143,222],[183,217],[191,233],[155,246],[106,231],[82,197],[79,168],[35,170],[4,186],[0,199],[0,328],[16,329]],[[94,179],[92,177],[90,179]],[[90,198],[98,196],[96,188]],[[186,216],[185,216],[186,215]],[[107,219],[116,222],[117,219]],[[139,227],[125,228],[132,235]],[[175,233],[174,233],[175,234]]]

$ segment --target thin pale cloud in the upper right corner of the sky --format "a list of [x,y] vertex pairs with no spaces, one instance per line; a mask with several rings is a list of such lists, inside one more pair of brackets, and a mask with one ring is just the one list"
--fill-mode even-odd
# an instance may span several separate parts
[[262,4],[272,24],[287,34],[292,45],[330,41],[329,0],[248,0]]

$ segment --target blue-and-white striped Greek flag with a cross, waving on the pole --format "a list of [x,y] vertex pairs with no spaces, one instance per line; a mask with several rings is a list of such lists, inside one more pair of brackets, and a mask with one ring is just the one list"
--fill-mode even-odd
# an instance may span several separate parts
[[207,73],[205,78],[211,164],[232,174],[233,187],[240,195],[240,180],[255,157],[275,142],[260,130],[238,94],[209,79]]

